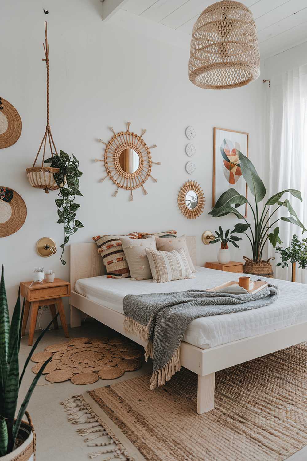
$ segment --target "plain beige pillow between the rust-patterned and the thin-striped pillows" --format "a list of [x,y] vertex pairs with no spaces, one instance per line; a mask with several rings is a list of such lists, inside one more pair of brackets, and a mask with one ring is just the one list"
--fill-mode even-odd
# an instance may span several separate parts
[[132,280],[147,280],[152,278],[151,268],[145,253],[145,248],[156,250],[155,237],[148,237],[146,240],[131,240],[129,237],[120,237],[122,249]]

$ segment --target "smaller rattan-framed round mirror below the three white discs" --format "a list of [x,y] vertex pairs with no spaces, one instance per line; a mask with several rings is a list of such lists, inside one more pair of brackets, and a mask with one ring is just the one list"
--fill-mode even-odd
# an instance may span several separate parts
[[205,197],[196,181],[187,181],[178,194],[178,207],[187,219],[196,219],[203,213]]

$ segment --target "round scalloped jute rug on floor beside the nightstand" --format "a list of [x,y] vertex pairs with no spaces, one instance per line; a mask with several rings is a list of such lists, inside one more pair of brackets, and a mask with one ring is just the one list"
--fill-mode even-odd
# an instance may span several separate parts
[[119,378],[125,371],[138,370],[141,366],[140,346],[127,341],[125,337],[82,337],[67,343],[62,340],[32,355],[31,361],[36,362],[32,372],[38,373],[44,361],[52,357],[44,370],[46,380],[51,383],[70,379],[73,384],[92,384],[98,378]]

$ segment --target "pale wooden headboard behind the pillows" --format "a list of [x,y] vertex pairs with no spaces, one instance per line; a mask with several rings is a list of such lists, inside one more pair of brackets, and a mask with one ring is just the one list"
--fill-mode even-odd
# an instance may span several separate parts
[[[196,265],[196,236],[188,236],[186,244],[191,260]],[[104,275],[105,268],[102,257],[98,254],[96,243],[71,243],[70,245],[70,285],[75,290],[75,282],[79,278]]]

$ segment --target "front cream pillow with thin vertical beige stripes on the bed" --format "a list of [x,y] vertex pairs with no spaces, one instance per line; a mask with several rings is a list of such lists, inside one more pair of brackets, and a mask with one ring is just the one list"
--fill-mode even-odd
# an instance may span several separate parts
[[162,284],[171,280],[195,278],[186,259],[184,248],[174,251],[155,251],[145,248],[145,252],[154,282]]

